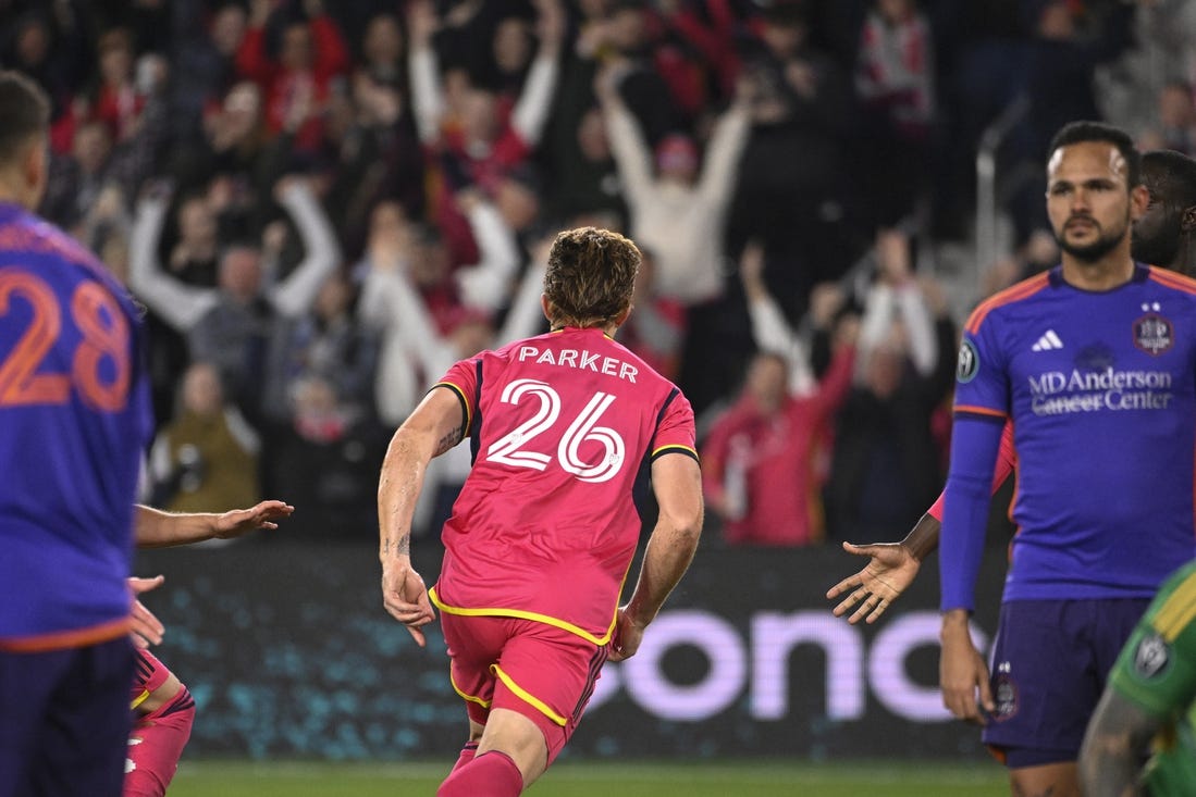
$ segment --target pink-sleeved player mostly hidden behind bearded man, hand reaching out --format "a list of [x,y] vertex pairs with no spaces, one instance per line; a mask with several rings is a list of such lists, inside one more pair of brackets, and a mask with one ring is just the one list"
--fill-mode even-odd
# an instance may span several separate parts
[[[1196,276],[1196,160],[1173,149],[1143,153],[1142,184],[1151,200],[1130,231],[1130,255],[1140,263]],[[1015,459],[1005,450],[1005,439],[1001,445],[994,491]],[[901,542],[843,542],[844,551],[867,557],[868,564],[828,590],[828,599],[843,596],[836,617],[850,612],[848,623],[875,623],[905,591],[926,557],[939,548],[942,499],[940,495]]]

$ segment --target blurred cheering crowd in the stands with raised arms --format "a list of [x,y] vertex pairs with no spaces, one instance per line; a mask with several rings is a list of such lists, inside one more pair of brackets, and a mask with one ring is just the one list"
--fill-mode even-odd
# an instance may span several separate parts
[[[698,412],[726,544],[895,539],[941,488],[957,320],[934,252],[1000,151],[1057,255],[1054,130],[1196,154],[1182,0],[0,0],[54,103],[42,213],[146,306],[148,499],[372,537],[390,431],[456,360],[543,331],[556,231],[630,234],[620,341]],[[929,264],[929,265],[927,265]],[[991,268],[989,268],[991,266]],[[469,468],[437,460],[431,534]]]

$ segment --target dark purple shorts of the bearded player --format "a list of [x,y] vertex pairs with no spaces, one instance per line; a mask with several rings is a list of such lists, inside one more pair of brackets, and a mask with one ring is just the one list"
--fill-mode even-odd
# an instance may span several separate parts
[[1122,645],[1149,599],[1009,601],[993,645],[983,740],[1012,770],[1075,761]]

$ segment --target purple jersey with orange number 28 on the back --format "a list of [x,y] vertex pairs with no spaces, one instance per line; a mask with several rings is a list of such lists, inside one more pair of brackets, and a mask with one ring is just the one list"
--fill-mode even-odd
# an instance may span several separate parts
[[126,631],[152,433],[142,331],[79,244],[0,204],[0,650]]

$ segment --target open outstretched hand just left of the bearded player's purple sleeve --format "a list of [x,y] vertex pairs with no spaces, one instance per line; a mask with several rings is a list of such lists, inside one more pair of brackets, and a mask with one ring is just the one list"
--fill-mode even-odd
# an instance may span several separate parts
[[848,623],[855,624],[864,618],[867,623],[879,620],[885,609],[914,583],[922,559],[939,547],[941,528],[939,519],[926,513],[901,542],[843,542],[844,551],[868,557],[868,564],[826,590],[829,600],[847,594],[834,608],[835,617],[843,617],[856,607],[847,618]]

